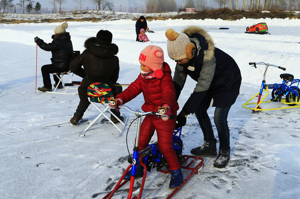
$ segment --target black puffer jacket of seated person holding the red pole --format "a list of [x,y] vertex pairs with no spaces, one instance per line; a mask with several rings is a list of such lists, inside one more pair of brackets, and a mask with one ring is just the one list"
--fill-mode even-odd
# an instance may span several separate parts
[[45,43],[42,39],[38,39],[36,43],[38,46],[46,51],[51,51],[51,62],[57,68],[69,68],[69,63],[73,55],[73,45],[71,42],[70,33],[61,33],[52,35],[53,41],[49,44]]

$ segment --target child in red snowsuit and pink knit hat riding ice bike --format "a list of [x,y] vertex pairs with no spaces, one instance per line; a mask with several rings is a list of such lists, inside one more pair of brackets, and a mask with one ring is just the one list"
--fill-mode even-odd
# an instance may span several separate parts
[[[158,148],[167,160],[171,172],[170,189],[181,186],[183,175],[181,165],[172,147],[173,133],[176,124],[175,117],[179,109],[175,97],[175,88],[171,76],[170,66],[164,62],[163,50],[155,45],[149,45],[142,50],[139,57],[141,73],[128,88],[116,96],[116,104],[109,105],[110,108],[117,108],[126,102],[143,93],[145,103],[142,110],[145,112],[166,108],[166,117],[157,115],[146,115],[141,127],[139,137],[139,150],[148,146],[154,131],[157,132]],[[118,108],[117,108],[118,109]],[[136,178],[143,177],[144,167],[137,165]],[[124,180],[130,181],[131,170],[128,171]]]

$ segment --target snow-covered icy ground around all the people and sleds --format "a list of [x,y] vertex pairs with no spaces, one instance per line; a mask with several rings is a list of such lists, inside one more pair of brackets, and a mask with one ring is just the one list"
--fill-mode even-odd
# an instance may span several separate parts
[[[259,22],[267,23],[271,35],[244,33],[246,27]],[[100,119],[85,137],[79,137],[98,115],[94,107],[90,106],[80,123],[73,126],[69,120],[79,103],[77,95],[35,93],[36,53],[37,87],[43,86],[40,68],[50,63],[51,53],[37,50],[34,37],[51,42],[53,30],[60,24],[0,24],[1,198],[103,198],[129,165],[126,132],[120,137],[112,135],[116,132],[113,125]],[[174,71],[175,62],[167,56],[167,28],[176,31],[187,25],[205,28],[216,47],[235,59],[243,78],[240,95],[228,116],[231,159],[226,168],[217,169],[213,166],[215,157],[203,157],[203,169],[173,198],[299,198],[300,108],[253,114],[241,105],[259,92],[264,72],[264,66],[253,68],[248,62],[286,68],[282,71],[269,67],[267,83],[280,83],[281,73],[300,78],[300,20],[157,20],[148,22],[155,32],[146,33],[151,43],[135,42],[135,22],[129,19],[68,24],[73,48],[81,52],[85,39],[95,36],[98,30],[113,33],[113,43],[119,46],[120,84],[129,84],[138,76],[140,51],[150,44],[163,48],[165,61]],[[81,80],[78,76],[74,79]],[[195,84],[188,78],[179,98],[180,107]],[[140,95],[126,105],[141,110],[142,104]],[[269,106],[285,105],[273,102]],[[121,112],[129,121],[135,118],[126,110]],[[213,113],[214,108],[210,108],[211,119]],[[136,126],[134,123],[128,133],[131,154]],[[183,154],[190,154],[190,149],[203,143],[195,115],[188,117],[182,139]],[[152,141],[156,141],[156,136]],[[183,172],[186,177],[187,171]],[[142,198],[166,198],[172,192],[168,189],[169,181],[170,174],[148,173]],[[138,194],[141,180],[137,182],[134,195]],[[127,198],[128,189],[129,183],[113,198]]]

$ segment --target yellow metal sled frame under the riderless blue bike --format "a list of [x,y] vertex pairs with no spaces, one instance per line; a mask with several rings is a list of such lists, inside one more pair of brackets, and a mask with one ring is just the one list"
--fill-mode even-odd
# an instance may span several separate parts
[[[271,110],[280,110],[280,109],[287,109],[287,108],[297,108],[297,107],[300,107],[300,101],[299,102],[286,102],[285,99],[281,99],[281,102],[279,103],[282,103],[282,104],[297,104],[295,106],[287,106],[287,107],[280,107],[280,108],[261,108],[259,105],[261,105],[262,103],[270,103],[272,101],[263,101],[267,95],[269,94],[269,91],[268,91],[268,86],[266,86],[266,89],[262,90],[262,92],[267,92],[265,94],[265,96],[262,97],[262,99],[260,99],[261,96],[259,96],[259,92],[257,94],[255,94],[252,98],[250,98],[250,100],[248,100],[247,102],[245,102],[242,107],[243,108],[247,108],[247,109],[250,109],[252,110],[253,112],[256,112],[256,111],[271,111]],[[253,100],[256,96],[259,96],[259,100],[258,102],[251,102],[249,103],[251,100]],[[297,101],[297,100],[296,100]],[[274,103],[274,102],[273,102]],[[256,106],[254,108],[251,108],[251,107],[247,107],[248,105],[253,105],[255,104]]]

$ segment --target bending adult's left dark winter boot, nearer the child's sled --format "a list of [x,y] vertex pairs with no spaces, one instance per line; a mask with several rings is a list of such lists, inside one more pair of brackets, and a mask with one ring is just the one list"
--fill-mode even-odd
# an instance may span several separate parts
[[217,140],[204,140],[203,145],[190,150],[194,155],[217,155]]

